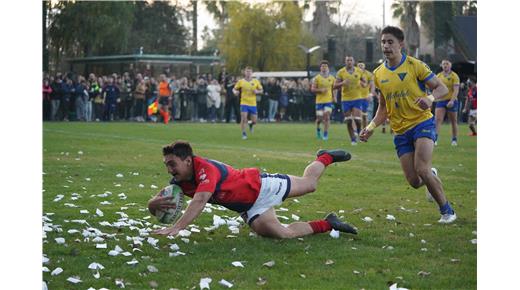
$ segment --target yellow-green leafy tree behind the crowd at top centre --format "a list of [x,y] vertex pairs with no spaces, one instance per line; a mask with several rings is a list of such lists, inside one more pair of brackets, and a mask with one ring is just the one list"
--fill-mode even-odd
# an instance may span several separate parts
[[302,29],[302,11],[294,2],[227,4],[229,23],[219,41],[227,67],[238,72],[246,65],[257,70],[293,70],[305,65],[298,44],[309,35]]

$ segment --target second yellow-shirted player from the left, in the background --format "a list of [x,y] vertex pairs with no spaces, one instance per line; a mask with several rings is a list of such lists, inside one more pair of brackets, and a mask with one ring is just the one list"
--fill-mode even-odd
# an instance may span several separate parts
[[329,139],[330,113],[332,112],[332,89],[335,78],[329,75],[329,62],[320,62],[320,74],[312,80],[311,92],[316,94],[316,137],[322,139],[320,124],[323,122],[323,140]]

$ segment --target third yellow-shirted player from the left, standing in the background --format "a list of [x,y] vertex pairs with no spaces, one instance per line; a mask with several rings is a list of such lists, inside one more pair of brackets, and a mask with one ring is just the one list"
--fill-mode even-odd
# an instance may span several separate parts
[[[341,87],[341,106],[345,120],[347,121],[348,134],[352,145],[357,145],[357,136],[361,130],[361,110],[363,99],[361,88],[366,87],[366,80],[363,79],[361,70],[354,65],[354,57],[345,57],[345,67],[341,68],[336,74],[335,88]],[[354,122],[356,130],[354,131]]]

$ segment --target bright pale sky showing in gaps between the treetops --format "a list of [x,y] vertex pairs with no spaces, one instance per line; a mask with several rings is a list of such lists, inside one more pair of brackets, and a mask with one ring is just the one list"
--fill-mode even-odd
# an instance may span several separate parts
[[[256,1],[258,2],[258,1]],[[265,2],[265,1],[264,1]],[[353,11],[351,20],[349,20],[350,24],[359,23],[359,24],[370,24],[376,25],[379,27],[383,26],[383,4],[385,6],[385,24],[386,25],[396,25],[397,22],[395,19],[391,17],[390,5],[393,0],[342,0],[340,13],[338,14],[338,18],[341,16],[348,15],[349,11]],[[199,6],[198,13],[198,48],[203,48],[202,42],[202,31],[205,26],[208,26],[210,29],[216,28],[216,22],[214,21],[211,14],[206,10],[204,5]],[[306,15],[304,15],[305,21],[312,20],[312,12],[309,11]],[[333,18],[334,22],[337,22],[337,18]]]

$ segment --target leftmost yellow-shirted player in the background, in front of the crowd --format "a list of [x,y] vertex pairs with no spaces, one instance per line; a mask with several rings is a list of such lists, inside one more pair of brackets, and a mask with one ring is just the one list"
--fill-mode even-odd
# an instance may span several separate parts
[[253,79],[253,69],[248,66],[244,69],[244,78],[239,80],[233,88],[233,93],[240,96],[240,129],[242,139],[247,139],[246,124],[247,115],[251,116],[249,131],[253,133],[253,126],[256,124],[256,95],[263,92],[262,85],[257,79]]

